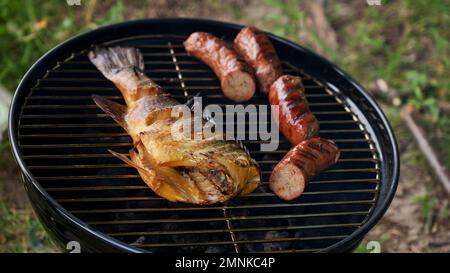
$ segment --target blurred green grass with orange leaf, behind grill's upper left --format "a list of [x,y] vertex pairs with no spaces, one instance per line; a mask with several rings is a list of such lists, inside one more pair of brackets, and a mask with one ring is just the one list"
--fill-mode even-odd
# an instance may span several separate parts
[[0,83],[15,90],[31,64],[52,47],[80,32],[123,20],[123,1],[69,6],[66,1],[0,0]]

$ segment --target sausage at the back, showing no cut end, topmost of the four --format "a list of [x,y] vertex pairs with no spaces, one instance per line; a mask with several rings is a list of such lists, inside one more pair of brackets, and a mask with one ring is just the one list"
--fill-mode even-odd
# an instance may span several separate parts
[[255,27],[245,27],[234,39],[233,47],[255,71],[259,91],[267,94],[283,74],[281,61],[267,35]]

